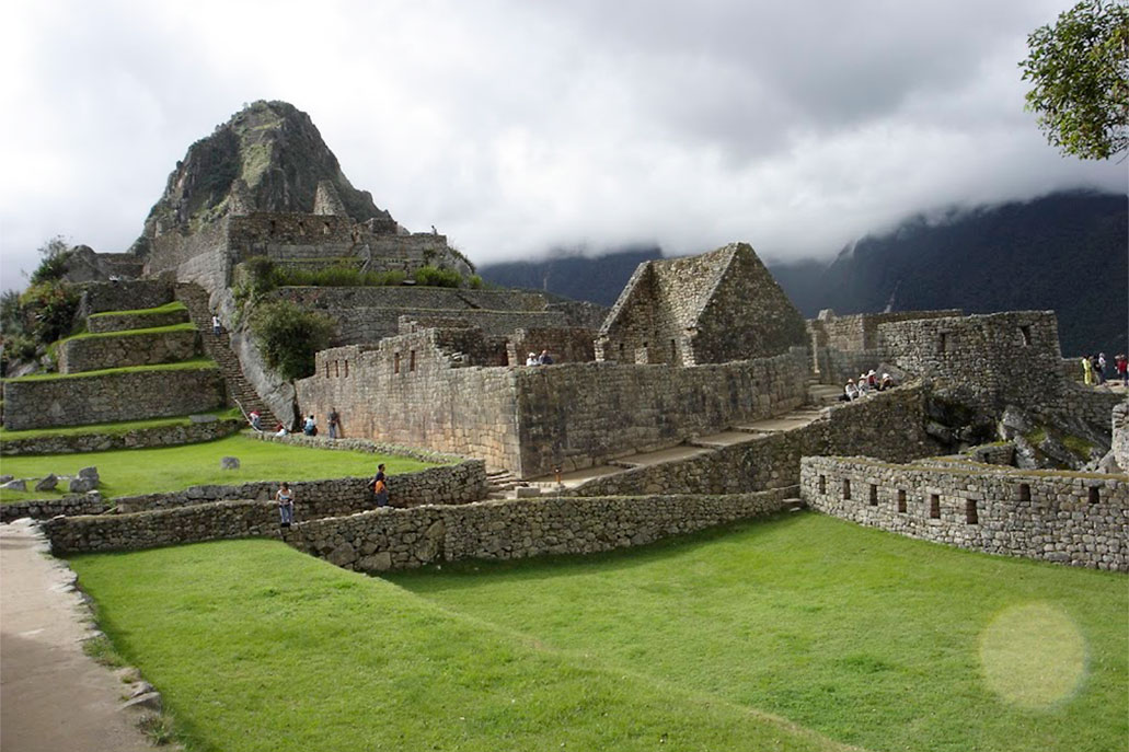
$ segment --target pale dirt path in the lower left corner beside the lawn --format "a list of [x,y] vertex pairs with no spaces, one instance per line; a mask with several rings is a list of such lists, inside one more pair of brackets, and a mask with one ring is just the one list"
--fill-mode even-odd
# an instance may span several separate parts
[[73,575],[34,527],[0,525],[0,749],[152,752],[119,710],[126,685],[82,653]]

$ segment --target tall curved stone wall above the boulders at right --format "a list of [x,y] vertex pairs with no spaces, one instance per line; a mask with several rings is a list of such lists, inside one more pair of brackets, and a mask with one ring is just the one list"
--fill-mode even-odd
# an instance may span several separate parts
[[899,368],[944,383],[988,410],[1053,406],[1064,392],[1052,311],[889,323],[878,335]]

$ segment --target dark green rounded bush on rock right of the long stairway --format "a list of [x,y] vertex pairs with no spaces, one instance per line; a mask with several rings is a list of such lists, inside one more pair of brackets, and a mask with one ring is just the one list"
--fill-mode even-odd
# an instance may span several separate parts
[[286,379],[314,374],[314,353],[329,347],[333,326],[332,318],[289,300],[268,303],[251,318],[266,364]]

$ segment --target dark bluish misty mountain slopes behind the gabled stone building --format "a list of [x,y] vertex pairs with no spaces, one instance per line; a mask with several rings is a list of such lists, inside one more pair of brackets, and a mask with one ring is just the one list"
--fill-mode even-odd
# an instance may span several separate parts
[[[755,247],[755,244],[754,244]],[[758,248],[765,255],[771,248]],[[611,305],[658,248],[484,266],[493,282]],[[1056,193],[926,218],[867,236],[832,262],[769,264],[807,317],[963,308],[1053,309],[1062,353],[1129,350],[1129,209],[1124,195]]]

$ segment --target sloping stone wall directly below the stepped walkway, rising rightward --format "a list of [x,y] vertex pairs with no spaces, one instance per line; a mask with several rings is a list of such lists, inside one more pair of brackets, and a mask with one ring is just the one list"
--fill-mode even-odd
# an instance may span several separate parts
[[807,426],[727,446],[690,460],[636,467],[584,483],[576,496],[741,493],[799,483],[808,455],[865,451],[908,462],[943,451],[925,430],[927,390],[902,386],[842,403]]

